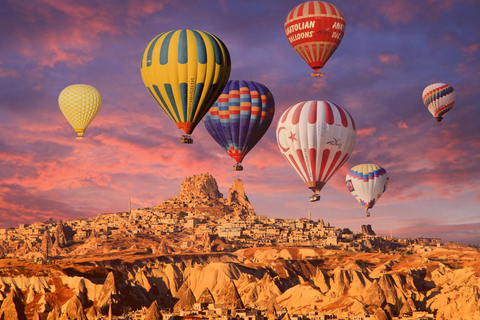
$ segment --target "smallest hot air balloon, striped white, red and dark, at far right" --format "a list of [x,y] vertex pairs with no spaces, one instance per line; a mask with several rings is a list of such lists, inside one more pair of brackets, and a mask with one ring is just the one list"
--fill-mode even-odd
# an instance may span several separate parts
[[437,125],[441,125],[440,121],[455,103],[455,91],[446,83],[433,83],[423,90],[422,99],[428,111],[437,119]]

